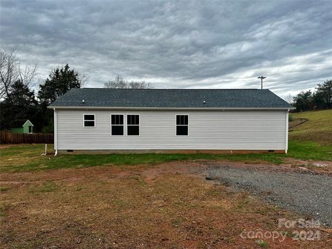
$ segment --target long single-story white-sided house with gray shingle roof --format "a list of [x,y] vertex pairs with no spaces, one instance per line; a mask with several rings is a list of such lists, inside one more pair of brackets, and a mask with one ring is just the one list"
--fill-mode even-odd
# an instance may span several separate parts
[[268,89],[71,89],[50,104],[55,151],[287,153],[288,111]]

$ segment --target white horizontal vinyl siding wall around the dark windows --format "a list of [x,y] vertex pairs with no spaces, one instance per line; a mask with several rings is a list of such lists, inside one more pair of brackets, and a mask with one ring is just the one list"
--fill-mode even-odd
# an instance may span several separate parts
[[[95,128],[82,114],[95,114]],[[286,149],[286,111],[185,111],[189,136],[176,136],[183,111],[57,111],[57,149]],[[111,114],[140,117],[140,136],[111,136]]]

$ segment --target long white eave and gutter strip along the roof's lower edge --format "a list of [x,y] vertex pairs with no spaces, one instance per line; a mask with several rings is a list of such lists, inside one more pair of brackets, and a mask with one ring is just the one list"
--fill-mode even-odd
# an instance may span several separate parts
[[240,111],[240,110],[295,110],[295,107],[63,107],[49,106],[48,109],[58,110],[210,110],[210,111]]

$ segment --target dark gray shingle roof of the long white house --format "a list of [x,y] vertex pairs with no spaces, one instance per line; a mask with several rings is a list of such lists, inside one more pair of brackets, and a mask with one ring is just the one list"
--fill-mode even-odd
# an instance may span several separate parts
[[96,88],[71,89],[52,107],[292,108],[268,89]]

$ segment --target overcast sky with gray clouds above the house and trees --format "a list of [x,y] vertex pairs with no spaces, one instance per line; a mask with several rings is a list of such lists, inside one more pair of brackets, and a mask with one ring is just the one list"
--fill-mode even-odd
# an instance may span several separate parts
[[1,49],[68,63],[102,87],[264,88],[286,97],[332,78],[332,1],[3,1]]

